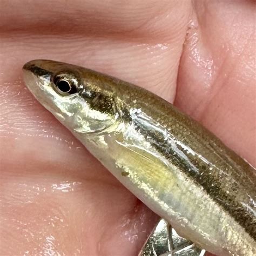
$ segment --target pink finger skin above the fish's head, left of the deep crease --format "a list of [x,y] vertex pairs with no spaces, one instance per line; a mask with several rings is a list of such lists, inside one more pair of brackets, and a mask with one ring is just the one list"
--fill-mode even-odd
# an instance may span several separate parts
[[[17,67],[31,57],[66,60],[129,80],[172,101],[191,11],[188,1],[178,2],[16,1],[14,9],[6,1],[0,17],[5,31],[2,48],[9,59],[16,59]],[[15,38],[5,36],[8,31],[16,31]]]

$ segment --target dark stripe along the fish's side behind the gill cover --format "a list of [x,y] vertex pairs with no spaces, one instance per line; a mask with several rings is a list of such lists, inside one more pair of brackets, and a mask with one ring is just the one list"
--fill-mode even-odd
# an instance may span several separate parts
[[[135,125],[136,130],[143,134],[145,139],[147,139],[147,141],[149,141],[159,153],[164,156],[168,156],[167,159],[173,165],[177,166],[179,170],[184,171],[186,176],[191,177],[194,183],[202,186],[205,192],[215,201],[215,203],[223,207],[223,209],[228,212],[228,214],[230,214],[254,240],[256,240],[256,228],[255,225],[253,225],[253,223],[255,223],[255,216],[253,213],[248,214],[246,206],[234,200],[232,193],[226,193],[219,185],[219,181],[215,180],[213,176],[205,173],[208,168],[206,163],[203,165],[200,163],[200,166],[198,166],[197,163],[188,163],[186,159],[175,154],[175,151],[172,149],[170,144],[166,142],[163,134],[149,130],[147,127],[143,127],[141,123],[137,123],[135,120],[133,120],[133,124]],[[166,150],[169,152],[166,153]],[[186,154],[185,151],[183,151],[183,153]],[[194,169],[192,164],[196,166],[197,170]],[[198,170],[200,171],[200,175],[198,175]],[[214,184],[214,187],[212,184]]]

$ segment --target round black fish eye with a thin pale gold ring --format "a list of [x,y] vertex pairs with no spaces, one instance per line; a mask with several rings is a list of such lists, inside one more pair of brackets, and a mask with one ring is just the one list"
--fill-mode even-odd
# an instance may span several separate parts
[[62,95],[71,95],[77,92],[76,80],[71,77],[58,75],[53,78],[53,83],[55,84],[57,91]]

